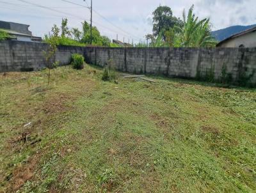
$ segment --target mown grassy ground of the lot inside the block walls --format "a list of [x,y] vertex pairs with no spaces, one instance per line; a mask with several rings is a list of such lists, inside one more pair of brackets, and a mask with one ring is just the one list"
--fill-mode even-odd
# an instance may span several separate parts
[[255,89],[46,73],[0,74],[0,192],[256,190]]

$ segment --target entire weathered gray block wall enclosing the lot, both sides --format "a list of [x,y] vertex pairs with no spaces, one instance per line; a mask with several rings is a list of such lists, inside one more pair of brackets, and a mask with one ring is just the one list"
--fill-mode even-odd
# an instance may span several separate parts
[[[0,42],[0,72],[44,68],[46,43]],[[250,81],[256,86],[256,48],[108,48],[58,46],[55,61],[68,65],[71,55],[82,54],[87,63],[116,70],[195,79],[223,75],[233,83]],[[223,74],[223,69],[225,73]]]

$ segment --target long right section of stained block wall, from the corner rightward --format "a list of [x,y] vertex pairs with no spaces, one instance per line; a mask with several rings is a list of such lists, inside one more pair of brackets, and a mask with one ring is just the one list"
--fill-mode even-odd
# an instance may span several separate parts
[[86,48],[88,63],[104,66],[111,61],[116,70],[195,79],[212,73],[215,81],[226,74],[237,82],[252,76],[256,85],[256,48]]

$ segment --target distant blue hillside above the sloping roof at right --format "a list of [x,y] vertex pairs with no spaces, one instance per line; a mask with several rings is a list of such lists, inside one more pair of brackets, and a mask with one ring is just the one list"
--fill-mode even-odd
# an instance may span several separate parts
[[250,29],[255,26],[256,26],[256,24],[252,25],[252,26],[230,26],[225,29],[219,29],[217,31],[212,31],[212,36],[214,36],[216,38],[216,40],[222,41],[222,40],[225,40],[226,38],[228,38],[229,36],[232,36],[236,33],[239,33],[246,29]]

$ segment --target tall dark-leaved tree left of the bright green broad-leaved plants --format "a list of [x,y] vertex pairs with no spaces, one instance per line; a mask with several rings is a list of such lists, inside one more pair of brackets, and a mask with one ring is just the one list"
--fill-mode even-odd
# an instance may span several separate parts
[[153,35],[164,36],[164,32],[174,26],[182,26],[182,20],[173,16],[172,10],[168,6],[159,6],[153,12]]

